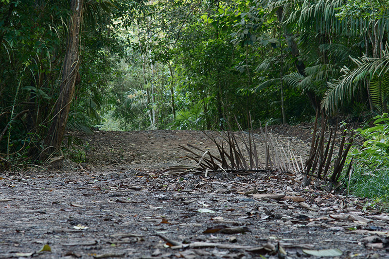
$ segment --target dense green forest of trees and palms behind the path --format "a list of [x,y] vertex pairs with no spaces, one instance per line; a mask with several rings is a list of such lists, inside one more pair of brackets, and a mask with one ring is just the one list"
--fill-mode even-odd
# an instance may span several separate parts
[[1,0],[0,167],[47,161],[66,130],[255,128],[317,112],[380,116],[352,155],[387,166],[388,6]]

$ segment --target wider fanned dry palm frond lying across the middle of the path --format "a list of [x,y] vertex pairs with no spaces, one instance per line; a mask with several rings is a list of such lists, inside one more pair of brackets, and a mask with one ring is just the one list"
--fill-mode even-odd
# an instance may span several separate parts
[[[217,156],[191,144],[187,144],[187,147],[180,145],[179,148],[191,154],[187,157],[194,160],[197,166],[175,166],[171,167],[168,173],[206,173],[208,175],[208,173],[225,172],[245,174],[269,170],[292,172],[299,168],[296,157],[293,159],[290,149],[288,155],[267,131],[267,127],[264,131],[261,126],[261,134],[265,139],[265,161],[262,163],[255,142],[258,135],[253,133],[252,125],[250,126],[251,129],[248,132],[243,131],[239,124],[238,132],[218,132],[217,134],[222,138],[221,141],[218,141],[212,134],[203,132],[215,144],[218,150]],[[296,162],[296,166],[293,161]]]

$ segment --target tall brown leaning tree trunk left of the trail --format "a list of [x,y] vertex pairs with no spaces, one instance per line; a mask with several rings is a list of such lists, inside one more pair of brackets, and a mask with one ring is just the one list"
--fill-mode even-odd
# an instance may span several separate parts
[[46,149],[40,156],[41,160],[45,160],[49,155],[52,155],[57,151],[61,147],[64,138],[66,122],[68,121],[79,69],[78,47],[83,1],[84,0],[71,0],[72,16],[62,70],[62,82],[59,87],[59,97],[55,103],[53,121],[44,141]]

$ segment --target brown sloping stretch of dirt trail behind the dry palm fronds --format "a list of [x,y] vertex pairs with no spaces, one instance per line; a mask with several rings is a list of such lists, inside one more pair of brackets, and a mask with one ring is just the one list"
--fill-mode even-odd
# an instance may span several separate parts
[[[88,141],[87,165],[96,168],[97,171],[101,171],[102,168],[156,170],[168,169],[174,165],[195,165],[193,160],[186,157],[189,153],[178,148],[179,145],[192,144],[203,150],[209,150],[212,154],[218,154],[217,147],[206,134],[223,141],[216,132],[187,130],[97,131],[93,136],[78,137]],[[303,160],[307,157],[308,141],[297,136],[275,136],[285,150],[290,147],[294,154],[298,157],[301,155]],[[264,155],[265,139],[258,134],[255,134],[255,137],[258,154]]]

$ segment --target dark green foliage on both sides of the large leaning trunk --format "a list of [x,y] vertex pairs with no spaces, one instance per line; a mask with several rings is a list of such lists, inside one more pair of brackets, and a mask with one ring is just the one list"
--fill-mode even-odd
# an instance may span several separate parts
[[[115,26],[132,0],[84,1],[80,74],[67,128],[90,131],[115,103],[106,91],[124,41]],[[141,7],[142,4],[137,5]],[[0,4],[0,156],[35,159],[53,118],[71,10],[69,1]],[[113,17],[116,17],[113,20]],[[4,130],[3,130],[4,129]],[[27,136],[27,137],[26,137]]]

